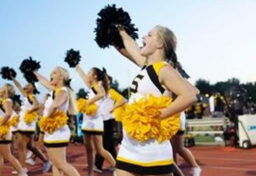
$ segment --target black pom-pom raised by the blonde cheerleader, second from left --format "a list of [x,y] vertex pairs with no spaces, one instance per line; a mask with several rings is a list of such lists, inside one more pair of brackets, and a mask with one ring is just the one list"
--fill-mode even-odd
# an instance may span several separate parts
[[21,62],[20,71],[24,74],[27,82],[33,83],[38,81],[33,71],[38,71],[40,67],[40,62],[36,62],[35,60],[32,60],[32,57],[29,57],[29,59],[25,59]]

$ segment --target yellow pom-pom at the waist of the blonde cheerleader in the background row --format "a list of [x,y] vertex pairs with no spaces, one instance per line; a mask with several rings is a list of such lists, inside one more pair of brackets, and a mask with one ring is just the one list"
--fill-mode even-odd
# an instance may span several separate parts
[[52,134],[54,131],[67,124],[68,116],[63,111],[57,111],[52,116],[41,117],[38,122],[40,129]]

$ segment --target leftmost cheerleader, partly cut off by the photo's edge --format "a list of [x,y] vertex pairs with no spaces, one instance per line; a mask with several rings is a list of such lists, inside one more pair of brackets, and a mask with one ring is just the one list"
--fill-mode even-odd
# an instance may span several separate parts
[[[15,102],[12,102],[12,97],[15,95],[15,90],[12,85],[5,84],[0,88],[0,108],[4,112],[1,116],[0,127],[6,125],[12,117],[17,114],[13,110]],[[3,167],[3,159],[6,159],[14,168],[18,171],[18,176],[27,176],[25,170],[23,170],[20,163],[15,159],[11,152],[11,142],[12,142],[12,131],[9,129],[8,134],[5,136],[0,136],[0,175],[1,169]]]

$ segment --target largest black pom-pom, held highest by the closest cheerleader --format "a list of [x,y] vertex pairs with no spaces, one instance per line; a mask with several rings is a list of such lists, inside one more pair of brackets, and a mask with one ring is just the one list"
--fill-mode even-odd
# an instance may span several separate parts
[[108,5],[98,15],[94,31],[96,32],[95,41],[100,48],[106,48],[109,45],[115,45],[118,48],[125,47],[116,25],[122,25],[134,40],[138,38],[136,33],[138,29],[134,27],[129,14],[122,8],[116,8],[115,4]]

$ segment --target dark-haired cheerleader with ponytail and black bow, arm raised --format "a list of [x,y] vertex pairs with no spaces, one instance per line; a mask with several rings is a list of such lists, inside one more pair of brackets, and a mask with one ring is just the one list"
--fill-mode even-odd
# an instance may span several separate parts
[[[76,65],[76,71],[83,79],[89,90],[87,100],[88,107],[90,104],[96,103],[100,107],[105,95],[108,92],[108,81],[106,71],[101,71],[99,68],[91,68],[90,71],[85,74],[79,65]],[[102,156],[108,161],[108,163],[114,167],[116,161],[111,154],[103,148],[102,134],[104,131],[102,117],[99,116],[99,109],[96,111],[96,115],[88,116],[84,114],[82,123],[82,132],[84,133],[84,144],[87,151],[88,162],[88,176],[93,176],[93,145],[96,149],[96,153]],[[115,174],[115,173],[114,173]]]

